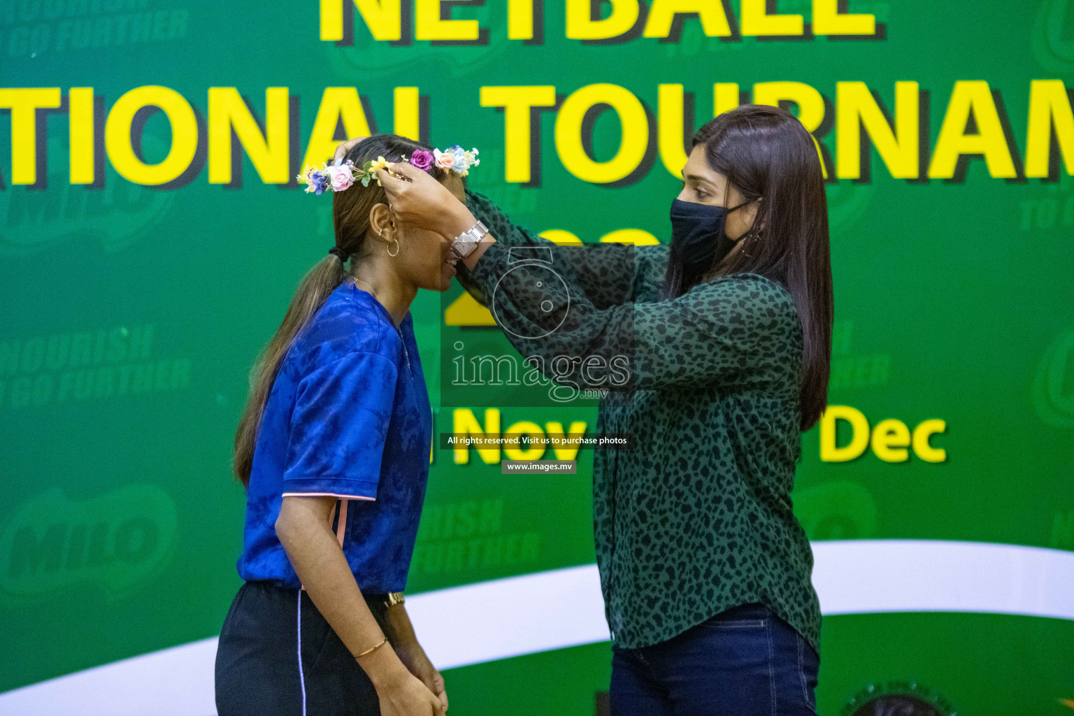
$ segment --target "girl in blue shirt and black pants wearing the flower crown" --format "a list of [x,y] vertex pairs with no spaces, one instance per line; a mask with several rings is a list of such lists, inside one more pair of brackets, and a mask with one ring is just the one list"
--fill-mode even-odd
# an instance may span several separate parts
[[377,172],[408,162],[462,198],[477,150],[376,135],[344,160],[299,177],[332,192],[335,245],[255,366],[235,435],[245,583],[217,651],[220,716],[448,708],[402,590],[433,432],[409,308],[449,287],[455,260],[400,221]]

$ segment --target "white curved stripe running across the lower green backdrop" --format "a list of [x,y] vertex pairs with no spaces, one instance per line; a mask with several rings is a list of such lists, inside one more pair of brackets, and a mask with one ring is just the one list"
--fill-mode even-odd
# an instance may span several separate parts
[[[826,615],[978,612],[1074,619],[1074,553],[984,542],[814,542]],[[407,597],[440,669],[609,639],[596,566],[555,569]],[[216,714],[216,639],[0,693],[9,716]]]

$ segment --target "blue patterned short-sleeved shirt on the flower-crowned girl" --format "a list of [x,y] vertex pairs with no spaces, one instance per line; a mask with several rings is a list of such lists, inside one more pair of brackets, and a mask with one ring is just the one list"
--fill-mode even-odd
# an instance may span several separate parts
[[282,497],[334,495],[332,528],[358,586],[403,590],[432,434],[410,315],[396,330],[379,302],[344,281],[295,337],[268,395],[246,496],[240,576],[297,588],[276,537]]

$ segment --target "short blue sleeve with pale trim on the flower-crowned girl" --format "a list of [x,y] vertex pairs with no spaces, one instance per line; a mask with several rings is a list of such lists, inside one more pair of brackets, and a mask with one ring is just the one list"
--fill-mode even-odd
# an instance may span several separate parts
[[376,499],[395,379],[394,363],[354,351],[300,381],[284,469],[285,496]]

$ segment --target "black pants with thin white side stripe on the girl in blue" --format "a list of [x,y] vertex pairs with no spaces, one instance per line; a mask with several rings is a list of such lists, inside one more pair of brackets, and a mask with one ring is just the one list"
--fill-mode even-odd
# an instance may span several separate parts
[[219,716],[379,716],[373,683],[305,591],[300,649],[299,599],[266,582],[238,589],[216,652]]

